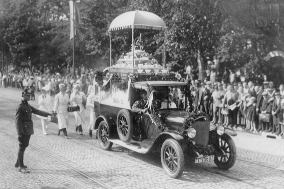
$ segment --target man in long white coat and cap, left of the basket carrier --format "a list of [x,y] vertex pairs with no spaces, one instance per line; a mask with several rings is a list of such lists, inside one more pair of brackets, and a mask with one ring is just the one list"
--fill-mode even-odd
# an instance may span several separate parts
[[70,104],[70,98],[65,92],[65,84],[59,84],[59,89],[60,92],[54,98],[54,111],[58,114],[58,135],[60,135],[60,131],[62,130],[64,137],[69,138],[66,128],[69,123],[68,104]]

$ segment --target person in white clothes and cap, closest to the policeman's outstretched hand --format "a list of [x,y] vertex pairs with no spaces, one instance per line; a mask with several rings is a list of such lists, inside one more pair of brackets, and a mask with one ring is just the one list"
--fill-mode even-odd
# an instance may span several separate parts
[[[39,105],[40,105],[39,109],[42,110],[42,111],[52,112],[53,107],[52,107],[52,103],[51,103],[51,97],[47,93],[48,87],[44,86],[44,87],[42,87],[41,90],[42,90],[42,95],[39,95]],[[47,135],[47,127],[48,127],[48,124],[51,121],[51,117],[50,116],[43,117],[43,116],[40,116],[40,115],[37,115],[37,117],[41,118],[42,126],[43,126],[43,133],[45,135]]]

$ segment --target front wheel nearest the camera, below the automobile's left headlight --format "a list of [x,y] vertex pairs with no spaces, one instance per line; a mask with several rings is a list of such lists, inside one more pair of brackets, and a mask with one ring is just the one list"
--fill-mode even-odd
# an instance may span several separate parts
[[[175,162],[177,164],[176,167],[173,167],[172,169],[169,168],[169,165],[174,165],[175,163],[171,162],[169,163],[169,161],[166,159],[167,158],[167,152],[172,152],[176,155],[175,156]],[[183,151],[181,149],[181,146],[179,145],[179,143],[172,138],[166,139],[162,145],[161,148],[161,161],[162,161],[162,165],[164,168],[164,171],[166,172],[167,175],[169,175],[172,178],[177,178],[179,176],[181,176],[183,169],[184,169],[184,155],[183,155]]]

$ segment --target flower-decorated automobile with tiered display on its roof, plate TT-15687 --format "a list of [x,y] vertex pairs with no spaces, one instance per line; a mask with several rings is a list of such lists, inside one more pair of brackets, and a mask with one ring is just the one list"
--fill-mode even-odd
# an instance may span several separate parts
[[223,125],[210,128],[208,117],[194,106],[189,84],[177,81],[142,53],[146,54],[133,45],[127,53],[132,55],[130,63],[129,57],[121,57],[96,71],[95,129],[100,146],[110,150],[116,143],[139,153],[159,152],[166,174],[173,178],[182,174],[185,160],[232,167],[236,147],[230,135],[236,133]]

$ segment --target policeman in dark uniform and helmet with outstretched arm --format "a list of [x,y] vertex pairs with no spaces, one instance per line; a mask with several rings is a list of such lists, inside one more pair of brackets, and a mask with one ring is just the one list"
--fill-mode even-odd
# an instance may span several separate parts
[[48,115],[55,115],[56,113],[48,113],[46,111],[41,111],[39,109],[31,106],[28,101],[31,98],[31,90],[29,88],[25,88],[22,92],[22,101],[18,105],[16,109],[16,129],[18,133],[19,139],[19,151],[18,151],[18,159],[15,164],[15,167],[19,167],[19,171],[23,173],[29,173],[27,170],[27,165],[24,165],[24,152],[26,147],[29,146],[30,137],[34,134],[34,126],[32,113],[47,117]]

